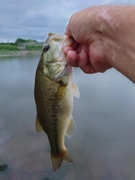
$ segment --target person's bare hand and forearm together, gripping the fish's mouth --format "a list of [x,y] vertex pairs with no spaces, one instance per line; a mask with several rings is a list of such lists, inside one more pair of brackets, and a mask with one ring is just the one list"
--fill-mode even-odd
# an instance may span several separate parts
[[135,5],[96,6],[72,15],[66,29],[78,43],[65,50],[85,73],[114,67],[135,83]]

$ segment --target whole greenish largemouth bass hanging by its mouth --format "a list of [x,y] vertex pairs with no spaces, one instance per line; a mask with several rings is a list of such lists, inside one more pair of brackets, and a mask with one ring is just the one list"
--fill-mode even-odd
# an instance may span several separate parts
[[73,162],[64,141],[75,133],[73,97],[79,98],[80,93],[63,53],[73,42],[67,35],[49,33],[35,75],[36,131],[48,136],[54,171],[63,160]]

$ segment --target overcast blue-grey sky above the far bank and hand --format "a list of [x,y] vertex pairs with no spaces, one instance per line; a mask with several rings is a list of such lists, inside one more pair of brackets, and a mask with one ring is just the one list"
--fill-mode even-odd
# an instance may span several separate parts
[[115,3],[135,4],[135,0],[0,0],[0,42],[43,41],[48,32],[64,33],[74,12]]

